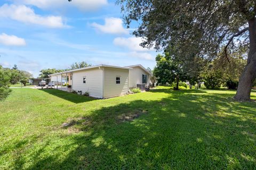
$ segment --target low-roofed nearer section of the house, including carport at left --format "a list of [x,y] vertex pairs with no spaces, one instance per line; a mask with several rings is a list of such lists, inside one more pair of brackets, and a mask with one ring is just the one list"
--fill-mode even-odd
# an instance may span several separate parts
[[60,81],[69,77],[71,90],[89,92],[96,98],[122,96],[129,92],[129,67],[95,65],[49,75],[51,81]]

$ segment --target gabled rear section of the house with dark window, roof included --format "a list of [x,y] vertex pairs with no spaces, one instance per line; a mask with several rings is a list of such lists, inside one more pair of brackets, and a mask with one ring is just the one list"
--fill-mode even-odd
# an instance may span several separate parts
[[132,68],[129,70],[129,88],[139,87],[143,90],[145,86],[149,86],[151,73],[145,67],[140,64],[126,67]]

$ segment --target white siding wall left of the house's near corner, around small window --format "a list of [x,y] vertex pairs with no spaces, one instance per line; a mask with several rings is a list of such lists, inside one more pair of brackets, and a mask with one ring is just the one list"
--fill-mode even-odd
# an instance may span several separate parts
[[[83,77],[86,77],[86,83],[83,83]],[[103,98],[103,71],[98,67],[73,72],[72,79],[73,90],[82,90],[82,94],[89,92],[89,95],[92,97]]]

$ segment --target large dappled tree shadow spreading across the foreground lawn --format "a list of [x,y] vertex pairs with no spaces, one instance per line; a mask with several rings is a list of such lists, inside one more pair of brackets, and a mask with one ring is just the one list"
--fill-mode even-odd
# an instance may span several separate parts
[[[254,169],[256,105],[183,93],[103,107],[74,120],[59,137],[71,142],[54,146],[49,156],[36,151],[29,169]],[[123,119],[133,114],[140,116]]]

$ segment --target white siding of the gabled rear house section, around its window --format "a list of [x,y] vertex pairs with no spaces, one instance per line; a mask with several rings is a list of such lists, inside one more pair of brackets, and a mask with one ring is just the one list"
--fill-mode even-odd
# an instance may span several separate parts
[[[142,83],[142,74],[147,75],[147,83]],[[137,84],[146,84],[149,86],[149,73],[139,66],[132,67],[129,71],[129,88],[137,87]]]

